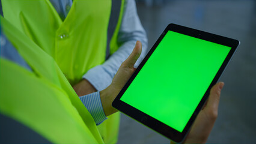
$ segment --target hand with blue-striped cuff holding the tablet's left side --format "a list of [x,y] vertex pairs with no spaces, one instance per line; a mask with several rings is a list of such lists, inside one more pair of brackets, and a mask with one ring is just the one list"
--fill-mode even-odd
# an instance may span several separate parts
[[133,52],[126,61],[121,64],[118,73],[115,74],[115,77],[108,88],[103,89],[100,92],[94,92],[92,94],[79,97],[84,106],[87,107],[88,111],[93,116],[96,125],[105,121],[105,119],[107,119],[106,116],[117,112],[117,110],[112,107],[112,101],[135,71],[134,65],[141,55],[141,49],[141,42],[137,41]]

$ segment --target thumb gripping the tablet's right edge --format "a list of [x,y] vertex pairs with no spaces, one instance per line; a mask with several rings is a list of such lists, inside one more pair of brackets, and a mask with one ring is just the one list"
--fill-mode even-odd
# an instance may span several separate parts
[[224,82],[219,82],[212,87],[205,109],[218,110],[219,98],[221,97],[221,89],[223,86]]

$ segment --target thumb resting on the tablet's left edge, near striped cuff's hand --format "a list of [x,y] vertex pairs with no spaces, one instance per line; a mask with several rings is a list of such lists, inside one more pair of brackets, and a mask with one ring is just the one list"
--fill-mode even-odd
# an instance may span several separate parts
[[126,61],[123,62],[122,66],[133,68],[135,62],[137,61],[137,59],[141,55],[141,50],[142,50],[141,41],[137,41],[132,53],[130,53],[130,55],[126,59]]

